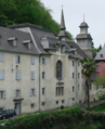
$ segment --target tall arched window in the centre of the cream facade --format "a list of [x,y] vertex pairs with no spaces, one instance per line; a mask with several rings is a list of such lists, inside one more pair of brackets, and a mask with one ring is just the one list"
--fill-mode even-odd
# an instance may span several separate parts
[[57,79],[63,78],[63,63],[61,61],[57,61],[56,63],[56,78]]

